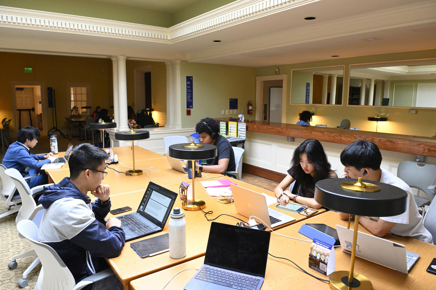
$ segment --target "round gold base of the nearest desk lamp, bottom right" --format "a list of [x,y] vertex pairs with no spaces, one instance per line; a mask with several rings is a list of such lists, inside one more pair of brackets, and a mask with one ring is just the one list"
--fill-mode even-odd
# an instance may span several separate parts
[[371,290],[372,283],[367,277],[359,274],[353,274],[353,282],[348,282],[349,271],[336,271],[330,274],[329,286],[331,290]]

